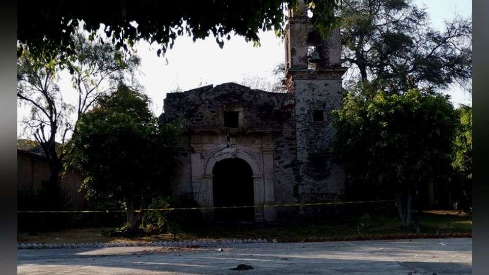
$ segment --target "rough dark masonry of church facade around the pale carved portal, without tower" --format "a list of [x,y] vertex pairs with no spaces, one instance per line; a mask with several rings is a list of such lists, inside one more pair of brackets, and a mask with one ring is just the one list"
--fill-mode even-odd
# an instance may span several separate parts
[[[251,155],[262,170],[269,165],[264,162],[273,161],[275,203],[297,202],[292,94],[252,90],[227,83],[167,94],[164,106],[162,118],[167,122],[183,119],[182,145],[188,154],[200,152],[202,163],[206,163],[216,152],[233,146]],[[224,126],[224,112],[229,108],[242,112],[237,128]],[[269,143],[273,144],[273,159],[266,160],[263,150],[268,149],[263,146]],[[192,144],[198,144],[199,148],[193,148]],[[176,193],[192,188],[192,159],[188,155],[181,159],[179,179],[174,183]],[[294,211],[278,210],[278,218],[285,218]]]

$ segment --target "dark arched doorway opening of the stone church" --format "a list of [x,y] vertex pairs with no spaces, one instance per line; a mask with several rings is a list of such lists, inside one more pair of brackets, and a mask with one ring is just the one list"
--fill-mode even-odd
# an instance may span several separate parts
[[[218,161],[212,174],[214,207],[255,204],[253,171],[245,160],[236,157]],[[253,207],[214,209],[214,220],[252,222],[255,219],[254,213]]]

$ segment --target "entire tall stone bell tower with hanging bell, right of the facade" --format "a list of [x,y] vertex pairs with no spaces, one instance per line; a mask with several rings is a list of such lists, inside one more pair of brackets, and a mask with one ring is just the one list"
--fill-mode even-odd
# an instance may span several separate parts
[[289,11],[285,36],[285,68],[289,93],[294,94],[298,164],[297,200],[338,200],[344,172],[327,152],[336,130],[331,112],[342,106],[341,40],[339,30],[322,38],[311,24],[304,1]]

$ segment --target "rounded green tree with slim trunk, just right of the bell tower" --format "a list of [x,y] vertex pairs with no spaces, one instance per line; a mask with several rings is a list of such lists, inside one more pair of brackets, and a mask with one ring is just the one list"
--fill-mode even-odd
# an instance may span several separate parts
[[372,99],[348,94],[333,114],[338,132],[331,151],[348,181],[391,190],[402,226],[410,226],[414,190],[449,168],[457,124],[451,103],[429,91],[380,91]]

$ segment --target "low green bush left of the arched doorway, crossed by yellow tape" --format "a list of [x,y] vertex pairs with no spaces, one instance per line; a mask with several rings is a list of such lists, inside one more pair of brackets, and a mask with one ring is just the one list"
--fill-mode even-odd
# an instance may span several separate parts
[[[199,207],[199,205],[189,196],[157,197],[153,198],[153,201],[148,205],[149,209],[193,207]],[[172,224],[177,224],[184,228],[194,228],[203,221],[200,211],[192,209],[146,211],[144,217],[148,227],[156,232],[165,232],[169,230]]]

